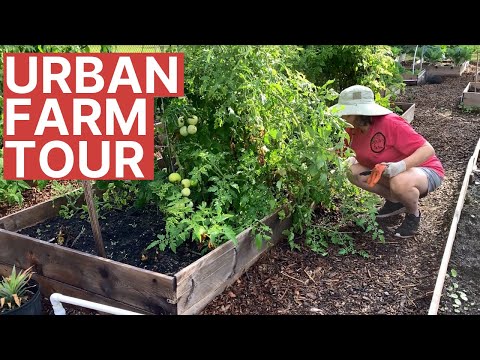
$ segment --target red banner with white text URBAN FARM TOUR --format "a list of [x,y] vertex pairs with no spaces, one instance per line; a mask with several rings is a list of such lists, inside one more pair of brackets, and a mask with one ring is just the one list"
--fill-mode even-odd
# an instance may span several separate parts
[[152,180],[154,98],[184,56],[4,54],[4,178]]

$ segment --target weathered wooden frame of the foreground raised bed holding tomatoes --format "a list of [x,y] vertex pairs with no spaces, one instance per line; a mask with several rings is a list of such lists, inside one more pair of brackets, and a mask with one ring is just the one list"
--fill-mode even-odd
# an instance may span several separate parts
[[14,264],[34,265],[44,296],[59,292],[144,314],[199,313],[291,224],[276,212],[262,220],[272,229],[270,244],[258,249],[249,228],[237,236],[237,246],[229,241],[169,276],[17,233],[57,216],[66,202],[60,197],[0,219],[0,275]]

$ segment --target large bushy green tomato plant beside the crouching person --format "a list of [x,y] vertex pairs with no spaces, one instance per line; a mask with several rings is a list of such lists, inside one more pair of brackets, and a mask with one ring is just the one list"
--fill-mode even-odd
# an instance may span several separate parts
[[[185,97],[161,102],[163,124],[157,132],[168,144],[163,153],[167,165],[157,169],[148,196],[166,216],[166,234],[151,247],[173,250],[193,238],[208,251],[235,240],[240,231],[282,206],[293,217],[292,246],[294,234],[305,233],[314,251],[325,253],[333,240],[353,252],[353,240],[339,230],[342,226],[357,223],[376,231],[373,212],[367,211],[373,203],[365,203],[371,197],[360,192],[345,196],[355,189],[337,155],[344,148],[346,124],[327,110],[327,102],[337,96],[332,82],[316,86],[294,70],[297,47],[170,50],[185,54]],[[197,131],[179,136],[179,118],[195,123]],[[192,187],[195,183],[188,197],[182,196],[181,184],[164,181],[172,171],[190,179]],[[312,203],[340,216],[315,233],[307,232]],[[265,231],[256,235],[257,242],[268,238]]]

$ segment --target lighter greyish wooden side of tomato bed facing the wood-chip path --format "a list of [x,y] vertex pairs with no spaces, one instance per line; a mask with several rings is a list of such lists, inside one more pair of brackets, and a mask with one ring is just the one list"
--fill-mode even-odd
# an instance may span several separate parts
[[227,242],[204,256],[201,264],[195,262],[175,274],[177,279],[178,314],[196,314],[226,287],[233,284],[259,256],[282,238],[283,230],[291,224],[291,218],[280,221],[275,213],[263,219],[272,228],[272,242],[258,249],[251,229],[237,236],[238,245]]

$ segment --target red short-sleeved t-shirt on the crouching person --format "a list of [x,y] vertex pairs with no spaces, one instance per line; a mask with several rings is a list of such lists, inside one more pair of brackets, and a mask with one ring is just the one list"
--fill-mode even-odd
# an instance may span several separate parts
[[[403,160],[426,143],[404,118],[394,113],[372,116],[372,124],[365,134],[353,128],[347,128],[347,132],[349,146],[355,151],[357,161],[370,169],[381,162]],[[442,163],[435,155],[419,166],[435,170],[442,178],[445,175]]]

